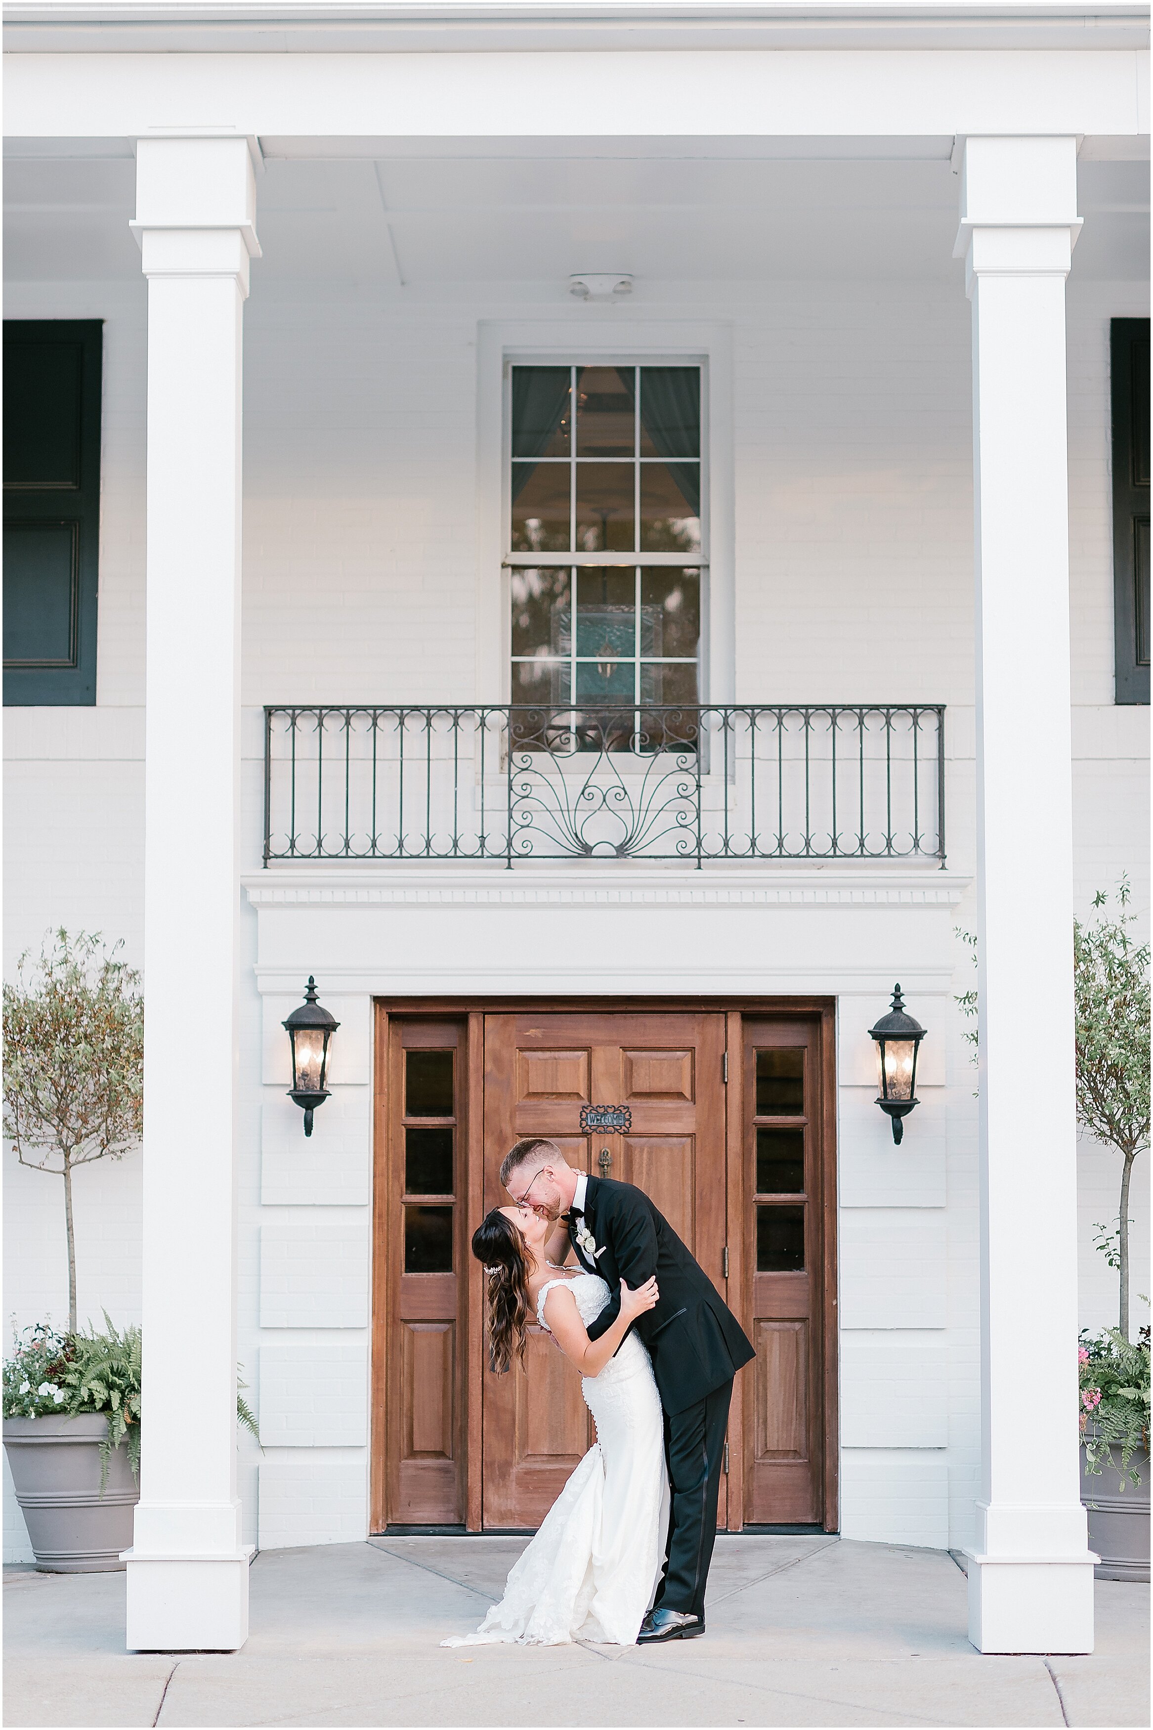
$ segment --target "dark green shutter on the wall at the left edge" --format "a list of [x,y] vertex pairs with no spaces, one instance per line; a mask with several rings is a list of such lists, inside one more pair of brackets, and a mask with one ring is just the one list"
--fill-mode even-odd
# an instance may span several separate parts
[[99,318],[3,320],[3,701],[97,701]]

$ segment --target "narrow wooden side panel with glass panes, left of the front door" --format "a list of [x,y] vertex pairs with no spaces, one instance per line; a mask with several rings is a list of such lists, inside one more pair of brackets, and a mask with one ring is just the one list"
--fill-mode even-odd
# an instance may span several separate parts
[[465,1517],[463,1329],[467,1040],[460,1022],[392,1021],[385,1258],[385,1517]]

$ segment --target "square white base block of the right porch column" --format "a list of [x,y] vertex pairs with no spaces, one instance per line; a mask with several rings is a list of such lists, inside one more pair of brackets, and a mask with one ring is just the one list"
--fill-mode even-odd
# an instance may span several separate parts
[[963,1552],[968,1637],[978,1652],[1091,1652],[1092,1552],[1042,1560]]

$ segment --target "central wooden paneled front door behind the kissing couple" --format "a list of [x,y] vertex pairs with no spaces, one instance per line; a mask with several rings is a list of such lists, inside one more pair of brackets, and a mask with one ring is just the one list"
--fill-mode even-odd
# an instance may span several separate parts
[[[724,1251],[723,1016],[486,1017],[484,1206],[524,1135],[645,1189],[717,1282]],[[627,1105],[627,1133],[581,1133],[581,1105]],[[484,1379],[484,1526],[536,1528],[591,1443],[579,1377],[531,1329],[526,1370]],[[724,1507],[721,1510],[724,1519]]]

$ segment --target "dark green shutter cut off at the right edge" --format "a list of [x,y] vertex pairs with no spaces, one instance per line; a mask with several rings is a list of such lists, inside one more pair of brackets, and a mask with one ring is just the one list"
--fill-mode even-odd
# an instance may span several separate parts
[[1150,320],[1113,318],[1117,702],[1150,701]]

